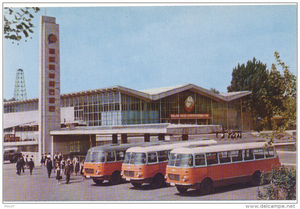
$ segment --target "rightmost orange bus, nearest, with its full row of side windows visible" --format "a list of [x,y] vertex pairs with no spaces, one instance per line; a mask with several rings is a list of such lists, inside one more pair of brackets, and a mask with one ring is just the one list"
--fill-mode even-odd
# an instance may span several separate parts
[[167,184],[180,193],[200,190],[203,195],[214,187],[250,182],[258,186],[261,173],[280,166],[273,147],[266,142],[223,144],[196,148],[178,148],[170,152],[166,169]]

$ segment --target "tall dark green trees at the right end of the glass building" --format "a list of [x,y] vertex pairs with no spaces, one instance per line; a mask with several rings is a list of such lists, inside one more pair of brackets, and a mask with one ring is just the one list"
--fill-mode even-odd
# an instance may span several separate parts
[[[231,85],[228,92],[252,91],[244,102],[244,109],[252,113],[255,119],[256,130],[272,130],[272,118],[282,116],[284,127],[296,121],[296,76],[289,71],[287,66],[276,51],[274,57],[277,64],[282,66],[283,75],[273,63],[271,70],[266,64],[257,61],[255,57],[247,64],[239,64],[232,71]],[[276,129],[279,127],[276,127]]]

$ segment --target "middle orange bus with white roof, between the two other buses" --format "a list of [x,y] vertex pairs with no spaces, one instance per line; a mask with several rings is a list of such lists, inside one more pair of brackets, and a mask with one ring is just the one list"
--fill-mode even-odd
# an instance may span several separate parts
[[158,146],[131,147],[126,151],[121,176],[124,180],[130,181],[134,187],[150,183],[152,188],[161,188],[165,184],[164,175],[172,149],[214,143],[217,142],[215,140],[193,140]]

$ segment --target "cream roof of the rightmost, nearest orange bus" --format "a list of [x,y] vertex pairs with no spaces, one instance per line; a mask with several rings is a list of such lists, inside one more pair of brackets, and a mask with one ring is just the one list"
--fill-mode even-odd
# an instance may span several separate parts
[[250,143],[238,143],[238,144],[218,144],[218,145],[202,146],[202,147],[195,147],[195,148],[181,147],[181,148],[173,149],[171,153],[194,154],[194,153],[207,153],[207,152],[223,152],[223,151],[230,151],[230,150],[261,148],[265,144],[266,142],[250,142]]

